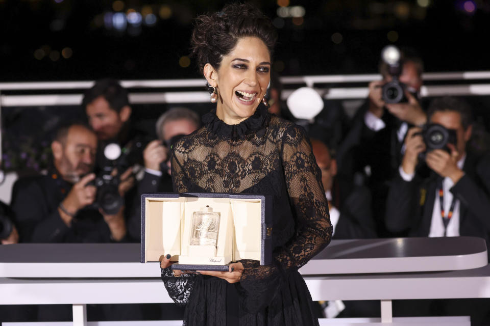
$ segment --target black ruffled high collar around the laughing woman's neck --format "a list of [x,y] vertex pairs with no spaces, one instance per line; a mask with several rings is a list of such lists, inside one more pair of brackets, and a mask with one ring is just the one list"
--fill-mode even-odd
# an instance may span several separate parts
[[227,124],[216,116],[216,109],[203,116],[203,124],[220,137],[230,139],[243,139],[260,129],[265,130],[271,115],[263,104],[259,104],[255,113],[239,124]]

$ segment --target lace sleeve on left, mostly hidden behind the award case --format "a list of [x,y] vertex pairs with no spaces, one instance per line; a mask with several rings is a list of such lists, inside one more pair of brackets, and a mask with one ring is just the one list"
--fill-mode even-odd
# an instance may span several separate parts
[[[172,181],[174,184],[174,191],[183,193],[186,191],[183,183],[183,172],[181,165],[176,158],[174,152],[171,155],[171,169],[172,169]],[[192,287],[195,281],[195,274],[182,274],[180,277],[174,277],[170,267],[162,268],[161,272],[162,281],[165,284],[168,295],[174,300],[175,303],[185,305],[192,292]]]

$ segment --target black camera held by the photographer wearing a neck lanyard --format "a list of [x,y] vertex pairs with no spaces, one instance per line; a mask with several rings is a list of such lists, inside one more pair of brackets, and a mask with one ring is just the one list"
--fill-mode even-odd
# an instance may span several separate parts
[[457,144],[456,130],[448,129],[437,123],[426,124],[421,132],[415,134],[421,134],[425,143],[426,150],[421,153],[422,158],[425,158],[426,154],[434,149],[443,149],[450,153],[451,149],[447,145],[456,146]]

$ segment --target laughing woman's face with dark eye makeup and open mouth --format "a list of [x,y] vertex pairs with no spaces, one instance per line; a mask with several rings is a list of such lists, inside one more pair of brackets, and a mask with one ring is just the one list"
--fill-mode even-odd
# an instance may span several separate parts
[[256,37],[239,39],[214,75],[218,118],[237,124],[252,116],[265,95],[270,71],[271,55],[264,42]]

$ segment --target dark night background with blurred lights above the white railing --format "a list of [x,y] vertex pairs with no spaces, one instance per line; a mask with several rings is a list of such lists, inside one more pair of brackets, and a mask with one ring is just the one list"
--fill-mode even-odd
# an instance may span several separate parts
[[[189,53],[192,19],[225,3],[0,0],[0,81],[199,77],[193,62],[189,65],[184,58],[184,67],[179,64]],[[490,66],[484,50],[490,1],[255,3],[278,27],[275,70],[284,76],[374,73],[379,52],[389,43],[418,50],[429,72],[488,70]],[[302,6],[304,17],[279,17],[279,4],[288,5],[286,13]],[[107,24],[111,15],[132,11],[142,14],[139,26],[127,23],[117,30]],[[153,25],[144,22],[149,14],[155,15]],[[335,33],[341,35],[340,42]]]

